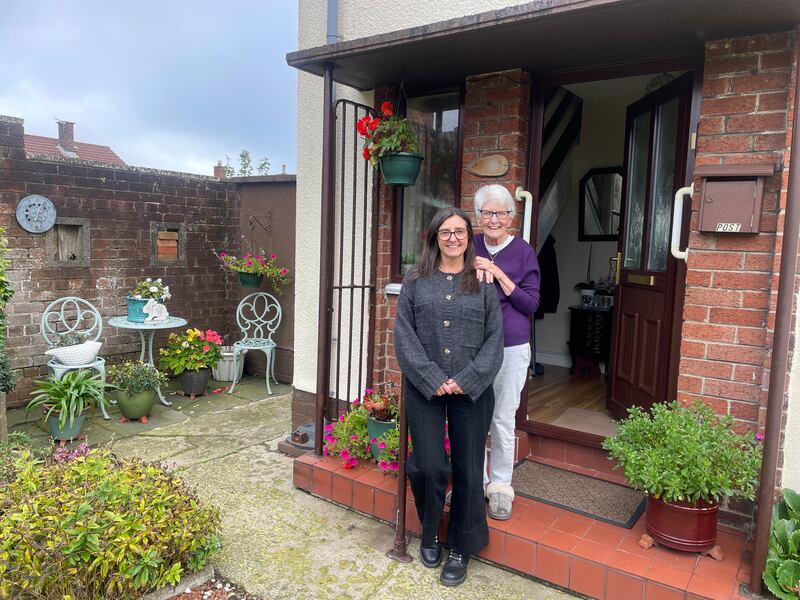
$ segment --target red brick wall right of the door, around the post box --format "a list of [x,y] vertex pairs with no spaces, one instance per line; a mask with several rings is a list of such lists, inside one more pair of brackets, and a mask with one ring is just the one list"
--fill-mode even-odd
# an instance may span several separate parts
[[777,171],[765,182],[759,234],[700,233],[694,194],[678,399],[701,398],[757,432],[769,386],[796,55],[792,32],[706,45],[696,164],[771,162]]

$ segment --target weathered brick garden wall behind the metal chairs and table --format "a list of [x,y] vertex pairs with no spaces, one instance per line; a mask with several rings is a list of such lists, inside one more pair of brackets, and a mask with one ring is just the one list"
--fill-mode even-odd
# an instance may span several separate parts
[[[152,169],[27,159],[23,133],[21,119],[0,117],[0,226],[9,239],[15,289],[8,349],[17,389],[8,396],[9,406],[24,404],[31,380],[46,375],[39,320],[47,304],[62,296],[89,300],[107,321],[125,314],[126,292],[138,281],[161,277],[172,292],[171,313],[191,326],[230,334],[238,297],[231,297],[212,249],[239,242],[235,185]],[[14,218],[17,202],[29,194],[50,198],[59,217],[89,220],[88,267],[45,265],[45,236],[28,233]],[[152,223],[183,224],[183,263],[150,266]],[[138,336],[107,326],[102,341],[101,356],[112,362],[140,347]]]

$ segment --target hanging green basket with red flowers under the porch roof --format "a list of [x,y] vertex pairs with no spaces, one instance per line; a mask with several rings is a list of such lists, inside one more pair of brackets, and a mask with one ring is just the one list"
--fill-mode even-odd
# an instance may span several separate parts
[[417,135],[408,120],[394,114],[391,102],[381,105],[381,117],[365,115],[356,123],[364,138],[362,156],[373,167],[380,165],[388,185],[414,185],[422,166]]

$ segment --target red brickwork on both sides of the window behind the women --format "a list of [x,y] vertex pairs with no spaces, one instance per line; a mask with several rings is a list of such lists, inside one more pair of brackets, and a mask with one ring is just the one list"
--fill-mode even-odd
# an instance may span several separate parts
[[[393,97],[389,88],[375,90],[375,106]],[[482,185],[499,183],[514,193],[525,185],[528,153],[528,115],[530,78],[519,69],[488,73],[467,78],[464,98],[464,146],[461,168],[461,208],[473,214],[473,197]],[[476,158],[502,154],[509,169],[500,177],[478,177],[466,166]],[[380,186],[378,213],[378,266],[375,322],[375,360],[373,385],[377,389],[399,387],[400,366],[394,356],[392,324],[397,297],[384,292],[391,282],[392,194],[390,186]],[[521,204],[512,230],[518,231]],[[474,221],[473,221],[474,224]]]

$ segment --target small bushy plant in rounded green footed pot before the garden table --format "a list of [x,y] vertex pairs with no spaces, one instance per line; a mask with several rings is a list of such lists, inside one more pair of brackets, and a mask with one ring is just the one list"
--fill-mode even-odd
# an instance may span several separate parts
[[147,423],[156,400],[156,388],[167,382],[167,376],[153,365],[142,361],[125,362],[108,370],[111,385],[116,388],[120,422]]

